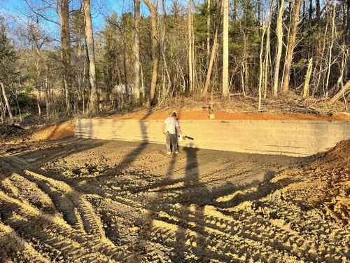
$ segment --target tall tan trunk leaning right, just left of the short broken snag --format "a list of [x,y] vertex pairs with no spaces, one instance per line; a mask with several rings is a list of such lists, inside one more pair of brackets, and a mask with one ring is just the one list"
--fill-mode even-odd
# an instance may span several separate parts
[[289,89],[290,69],[292,67],[293,52],[295,48],[295,41],[297,38],[297,24],[299,22],[301,6],[302,6],[302,0],[296,0],[293,8],[294,14],[293,14],[293,22],[291,25],[292,32],[289,36],[286,61],[284,63],[284,74],[283,74],[284,79],[283,79],[282,93],[286,93]]

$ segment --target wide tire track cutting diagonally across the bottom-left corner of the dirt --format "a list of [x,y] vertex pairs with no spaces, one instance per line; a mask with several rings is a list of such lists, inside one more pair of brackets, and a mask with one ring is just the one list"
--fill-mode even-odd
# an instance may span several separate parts
[[72,229],[59,217],[52,217],[30,207],[20,201],[6,196],[0,191],[1,215],[3,222],[15,231],[27,237],[34,237],[38,241],[62,252],[68,260],[120,260],[121,252],[113,248],[104,240],[96,240],[90,235]]

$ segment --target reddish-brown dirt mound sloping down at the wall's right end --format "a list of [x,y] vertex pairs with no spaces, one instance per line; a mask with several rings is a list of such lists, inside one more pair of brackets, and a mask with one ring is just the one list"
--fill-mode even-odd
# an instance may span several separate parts
[[[316,155],[303,169],[306,180],[290,184],[281,193],[308,209],[317,208],[325,217],[343,224],[350,223],[350,140],[339,142],[334,149]],[[293,172],[291,173],[293,175]],[[288,176],[290,174],[287,173]],[[274,178],[278,181],[281,175]]]

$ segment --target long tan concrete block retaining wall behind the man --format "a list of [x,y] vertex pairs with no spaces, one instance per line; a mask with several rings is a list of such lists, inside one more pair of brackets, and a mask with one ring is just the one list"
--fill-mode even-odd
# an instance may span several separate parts
[[[76,137],[165,143],[162,120],[79,119]],[[350,121],[179,121],[195,140],[182,146],[253,154],[309,156],[350,139]]]

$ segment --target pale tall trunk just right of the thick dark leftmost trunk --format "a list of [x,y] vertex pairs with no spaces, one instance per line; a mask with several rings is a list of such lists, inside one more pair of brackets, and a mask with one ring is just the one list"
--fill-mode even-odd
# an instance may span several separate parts
[[84,0],[84,15],[85,15],[85,38],[87,48],[87,58],[89,59],[89,79],[91,86],[90,93],[90,113],[96,114],[99,111],[97,100],[97,83],[96,83],[96,65],[94,57],[94,34],[92,29],[90,0]]

